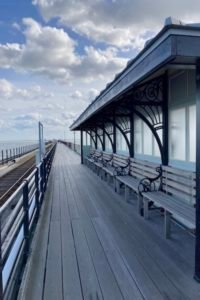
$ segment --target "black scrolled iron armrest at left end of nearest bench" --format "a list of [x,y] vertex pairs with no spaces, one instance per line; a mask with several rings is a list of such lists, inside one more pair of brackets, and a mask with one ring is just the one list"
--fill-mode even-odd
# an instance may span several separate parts
[[[146,192],[154,192],[158,191],[161,188],[161,179],[162,179],[162,166],[156,168],[156,172],[158,175],[153,178],[144,177],[140,180],[140,183],[138,185],[138,192],[142,196],[143,193]],[[160,180],[159,185],[156,185],[156,181]]]

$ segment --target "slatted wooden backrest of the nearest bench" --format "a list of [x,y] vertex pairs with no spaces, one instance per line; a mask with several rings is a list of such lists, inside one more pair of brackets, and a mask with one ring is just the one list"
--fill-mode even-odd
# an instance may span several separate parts
[[195,204],[196,176],[194,172],[163,166],[162,190],[181,200]]

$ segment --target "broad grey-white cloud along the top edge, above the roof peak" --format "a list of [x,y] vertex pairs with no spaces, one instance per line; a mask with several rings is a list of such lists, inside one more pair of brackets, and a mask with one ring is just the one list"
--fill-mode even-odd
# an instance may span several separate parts
[[[199,21],[199,0],[34,0],[43,17],[60,22],[96,42],[141,48],[147,31],[157,32],[170,15]],[[195,9],[194,9],[195,7]]]

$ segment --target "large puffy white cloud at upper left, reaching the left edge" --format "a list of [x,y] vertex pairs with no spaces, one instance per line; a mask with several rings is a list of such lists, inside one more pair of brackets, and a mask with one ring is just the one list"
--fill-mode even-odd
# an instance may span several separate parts
[[76,41],[63,30],[41,26],[31,18],[23,19],[26,43],[0,45],[0,65],[18,71],[57,79],[64,83],[71,80],[92,81],[97,77],[110,78],[126,64],[117,57],[117,50],[85,47],[85,54],[76,52]]

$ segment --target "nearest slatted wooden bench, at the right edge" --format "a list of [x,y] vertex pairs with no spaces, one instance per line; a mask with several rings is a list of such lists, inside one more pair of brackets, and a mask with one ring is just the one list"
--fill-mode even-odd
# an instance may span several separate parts
[[163,166],[161,189],[143,193],[144,218],[149,217],[149,202],[164,209],[165,237],[170,237],[171,219],[174,218],[187,228],[195,229],[195,173]]

